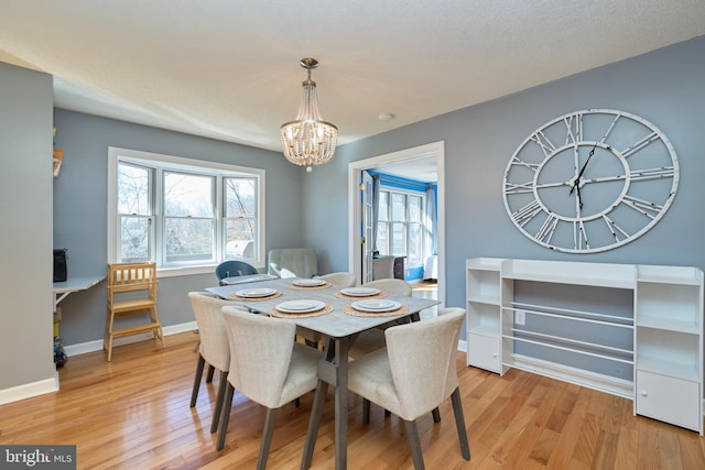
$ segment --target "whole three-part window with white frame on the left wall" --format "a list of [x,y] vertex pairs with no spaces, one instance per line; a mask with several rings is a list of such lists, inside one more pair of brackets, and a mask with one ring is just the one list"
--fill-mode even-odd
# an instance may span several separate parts
[[154,261],[162,275],[263,266],[263,171],[110,147],[109,185],[108,262]]

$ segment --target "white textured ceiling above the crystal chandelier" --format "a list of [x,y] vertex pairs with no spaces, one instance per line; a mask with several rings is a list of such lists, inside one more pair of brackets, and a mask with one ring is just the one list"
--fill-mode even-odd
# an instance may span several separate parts
[[306,56],[346,143],[703,34],[703,0],[0,0],[56,107],[274,151]]

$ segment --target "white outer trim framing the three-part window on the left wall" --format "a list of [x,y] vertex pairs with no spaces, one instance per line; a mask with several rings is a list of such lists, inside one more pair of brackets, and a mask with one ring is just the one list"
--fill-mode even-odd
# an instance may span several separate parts
[[[265,245],[264,240],[267,239],[265,233],[265,225],[264,220],[267,220],[265,215],[265,184],[264,184],[264,170],[261,168],[250,168],[246,166],[239,165],[229,165],[225,163],[217,162],[207,162],[203,160],[194,160],[194,159],[185,159],[181,156],[165,155],[160,153],[151,153],[151,152],[142,152],[130,149],[120,149],[120,147],[108,147],[108,263],[115,263],[118,259],[118,244],[119,244],[119,234],[118,234],[118,163],[120,161],[133,163],[142,166],[150,166],[150,162],[152,164],[159,164],[162,167],[169,167],[172,171],[185,171],[185,172],[203,172],[206,174],[218,174],[223,176],[247,176],[254,177],[257,179],[257,204],[258,204],[258,241],[256,243],[257,250],[253,253],[252,260],[248,260],[248,263],[252,264],[254,267],[263,269],[265,266]],[[220,199],[219,197],[217,199]],[[223,204],[221,201],[218,205]],[[223,210],[218,207],[218,218],[223,218]],[[154,242],[158,242],[154,240]],[[225,253],[223,252],[220,247],[216,248],[216,256],[217,260],[223,261]],[[155,254],[155,258],[159,258]],[[158,261],[158,273],[160,277],[170,277],[170,276],[180,276],[180,275],[191,275],[191,274],[206,274],[213,273],[215,266],[218,264],[206,263],[206,264],[195,264],[188,266],[176,266],[176,267],[164,267],[159,265]]]

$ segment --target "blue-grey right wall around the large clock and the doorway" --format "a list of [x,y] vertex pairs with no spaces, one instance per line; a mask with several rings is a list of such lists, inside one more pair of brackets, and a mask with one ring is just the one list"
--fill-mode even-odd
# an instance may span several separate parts
[[[349,228],[346,214],[338,211],[347,200],[348,162],[444,141],[448,306],[465,305],[465,260],[476,256],[705,269],[704,77],[705,36],[701,36],[343,145],[335,163],[316,168],[303,188],[304,227],[310,228],[305,238],[328,253],[332,269],[345,267]],[[636,241],[603,253],[558,253],[513,227],[502,203],[502,175],[527,135],[556,117],[588,108],[628,111],[661,129],[679,156],[680,187],[668,214]],[[326,195],[325,200],[319,194]]]

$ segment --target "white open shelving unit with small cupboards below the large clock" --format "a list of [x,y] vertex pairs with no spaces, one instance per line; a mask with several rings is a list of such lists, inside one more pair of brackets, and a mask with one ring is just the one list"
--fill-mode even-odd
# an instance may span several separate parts
[[703,435],[703,271],[467,260],[467,363],[629,397]]

